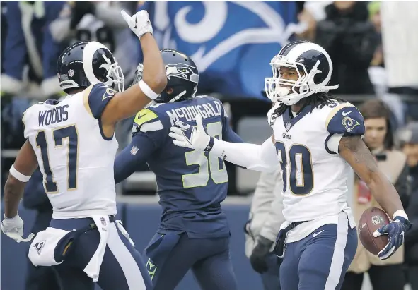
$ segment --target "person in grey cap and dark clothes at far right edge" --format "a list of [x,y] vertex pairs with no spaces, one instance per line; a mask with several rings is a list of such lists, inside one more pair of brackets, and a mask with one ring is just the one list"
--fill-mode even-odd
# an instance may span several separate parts
[[412,290],[418,290],[418,122],[409,123],[400,130],[399,139],[410,167],[409,205],[406,207],[412,229],[405,235],[405,262],[409,266],[408,278]]

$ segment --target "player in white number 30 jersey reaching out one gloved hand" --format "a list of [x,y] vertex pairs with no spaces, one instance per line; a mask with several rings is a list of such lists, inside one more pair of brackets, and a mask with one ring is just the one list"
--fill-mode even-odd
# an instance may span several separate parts
[[262,145],[227,143],[202,129],[178,123],[170,130],[175,145],[206,150],[228,162],[258,171],[281,167],[284,218],[275,253],[284,256],[282,290],[340,289],[354,258],[357,236],[347,205],[351,166],[388,212],[392,222],[373,235],[388,234],[378,256],[386,259],[403,243],[410,222],[399,195],[378,169],[362,140],[363,116],[349,102],[327,95],[332,61],[311,42],[286,44],[271,61],[267,96],[277,101],[268,114],[272,138]]

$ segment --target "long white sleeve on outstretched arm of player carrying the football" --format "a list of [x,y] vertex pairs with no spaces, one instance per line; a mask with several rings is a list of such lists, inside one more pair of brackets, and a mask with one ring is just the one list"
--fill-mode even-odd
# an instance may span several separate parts
[[262,145],[214,140],[211,153],[228,162],[255,171],[274,171],[279,167],[276,147],[268,138]]

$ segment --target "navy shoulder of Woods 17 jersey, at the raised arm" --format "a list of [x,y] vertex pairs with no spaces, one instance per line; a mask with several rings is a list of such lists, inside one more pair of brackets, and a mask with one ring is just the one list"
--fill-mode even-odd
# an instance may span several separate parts
[[83,92],[84,106],[95,119],[100,119],[106,105],[116,93],[112,87],[104,83],[91,85]]

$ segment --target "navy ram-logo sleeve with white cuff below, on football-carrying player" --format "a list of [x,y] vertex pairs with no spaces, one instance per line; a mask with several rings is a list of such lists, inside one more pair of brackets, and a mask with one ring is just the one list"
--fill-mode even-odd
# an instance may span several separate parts
[[325,140],[325,149],[330,154],[338,153],[339,140],[344,136],[364,135],[364,119],[359,109],[349,103],[338,104],[330,111],[325,121],[330,133]]

